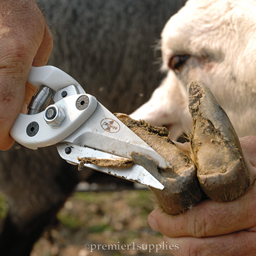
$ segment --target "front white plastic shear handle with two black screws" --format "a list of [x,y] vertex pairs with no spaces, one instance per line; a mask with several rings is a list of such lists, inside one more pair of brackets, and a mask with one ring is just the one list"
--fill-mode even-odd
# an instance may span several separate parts
[[[10,132],[12,138],[24,147],[37,149],[54,145],[76,131],[95,111],[97,100],[86,94],[90,103],[84,110],[76,108],[81,94],[72,95],[56,102],[55,106],[65,109],[65,120],[60,127],[51,127],[44,120],[44,111],[36,115],[19,114]],[[30,133],[30,136],[29,136]]]

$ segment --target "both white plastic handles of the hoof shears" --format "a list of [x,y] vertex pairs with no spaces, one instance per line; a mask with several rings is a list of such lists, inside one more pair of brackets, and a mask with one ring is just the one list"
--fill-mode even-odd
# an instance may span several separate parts
[[[97,108],[95,97],[85,94],[83,87],[73,77],[59,68],[52,66],[31,67],[28,82],[38,88],[42,85],[47,86],[55,92],[74,85],[77,94],[55,102],[54,105],[65,112],[65,120],[58,127],[52,127],[45,122],[44,111],[35,115],[19,114],[10,134],[15,141],[25,147],[37,149],[60,142],[76,131]],[[86,108],[84,109],[77,106],[77,100],[81,97],[87,99]]]

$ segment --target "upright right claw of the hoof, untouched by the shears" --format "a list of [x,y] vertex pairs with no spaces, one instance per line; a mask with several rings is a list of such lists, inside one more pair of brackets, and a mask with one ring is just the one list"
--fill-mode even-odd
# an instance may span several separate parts
[[204,83],[188,84],[188,95],[193,119],[191,148],[200,186],[212,200],[235,200],[253,182],[236,131]]

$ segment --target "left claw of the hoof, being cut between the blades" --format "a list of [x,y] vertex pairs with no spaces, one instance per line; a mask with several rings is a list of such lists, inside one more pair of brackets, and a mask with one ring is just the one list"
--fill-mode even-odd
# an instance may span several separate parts
[[125,114],[115,115],[172,165],[172,168],[162,170],[154,160],[143,154],[132,152],[131,155],[134,163],[145,167],[164,185],[163,190],[151,188],[164,211],[179,214],[200,202],[202,190],[196,178],[195,164],[170,140],[168,130],[143,120],[133,120]]

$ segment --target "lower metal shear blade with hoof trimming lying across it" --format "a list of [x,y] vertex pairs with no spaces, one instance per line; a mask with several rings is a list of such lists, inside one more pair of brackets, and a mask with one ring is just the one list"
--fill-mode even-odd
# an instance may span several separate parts
[[[77,157],[96,157],[104,159],[122,159],[122,157],[116,157],[113,154],[100,152],[92,148],[81,147],[72,143],[60,143],[57,145],[60,156],[71,164],[79,164]],[[69,150],[65,150],[70,148]],[[140,184],[150,186],[157,189],[164,189],[163,184],[159,182],[152,174],[150,174],[145,168],[140,165],[132,164],[129,168],[109,168],[97,166],[95,164],[84,164],[88,168],[98,170],[100,172],[108,173],[110,175],[131,180],[132,182],[138,182]]]

